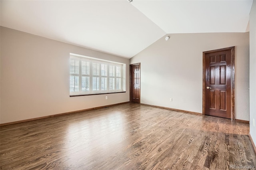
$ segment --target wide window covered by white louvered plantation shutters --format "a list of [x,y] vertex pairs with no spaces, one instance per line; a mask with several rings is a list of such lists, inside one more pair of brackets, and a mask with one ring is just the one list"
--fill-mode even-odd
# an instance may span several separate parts
[[70,96],[122,92],[123,65],[70,55]]

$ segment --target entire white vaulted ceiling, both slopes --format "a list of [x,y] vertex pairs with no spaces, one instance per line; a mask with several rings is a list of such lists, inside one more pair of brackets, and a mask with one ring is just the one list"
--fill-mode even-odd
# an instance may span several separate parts
[[1,0],[0,25],[131,58],[166,34],[246,32],[253,0]]

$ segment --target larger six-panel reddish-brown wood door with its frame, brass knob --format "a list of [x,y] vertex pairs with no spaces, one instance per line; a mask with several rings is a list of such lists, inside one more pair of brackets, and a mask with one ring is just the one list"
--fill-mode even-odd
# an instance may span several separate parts
[[205,115],[231,119],[232,49],[204,53]]

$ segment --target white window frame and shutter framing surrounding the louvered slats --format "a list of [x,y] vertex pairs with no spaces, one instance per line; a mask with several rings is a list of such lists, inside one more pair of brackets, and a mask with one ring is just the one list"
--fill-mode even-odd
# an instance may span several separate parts
[[[106,60],[101,60],[101,59],[97,59],[97,58],[92,58],[92,57],[86,57],[86,56],[76,56],[76,55],[72,55],[70,54],[70,58],[69,59],[75,59],[75,60],[79,60],[79,74],[73,74],[73,73],[70,73],[70,77],[71,76],[78,76],[79,77],[79,91],[71,91],[71,84],[69,85],[70,86],[70,97],[74,97],[74,96],[84,96],[84,95],[100,95],[100,94],[110,94],[110,93],[124,93],[126,92],[123,88],[125,86],[123,86],[123,81],[125,81],[125,79],[123,78],[123,63],[116,63],[116,62],[112,62],[112,61],[106,61]],[[90,74],[82,74],[82,61],[86,61],[86,62],[89,62],[90,64]],[[96,63],[96,64],[99,64],[99,75],[93,75],[93,68],[92,68],[92,65],[93,63]],[[107,65],[107,76],[106,75],[102,75],[102,65]],[[110,76],[110,65],[111,66],[114,66],[114,70],[115,70],[115,73],[114,73],[114,76]],[[117,67],[118,67],[118,70],[120,71],[120,76],[117,76]],[[69,60],[69,69],[70,69],[70,60]],[[95,71],[95,70],[94,70]],[[84,75],[84,76],[83,76]],[[85,76],[89,76],[89,91],[82,91],[82,77],[85,77]],[[96,86],[96,88],[99,90],[97,91],[94,91],[93,90],[93,82],[92,82],[92,79],[93,77],[99,77],[99,86]],[[106,90],[103,90],[102,89],[102,78],[107,78],[107,89]],[[110,89],[110,78],[114,78],[114,83],[115,83],[115,88],[112,90]],[[116,89],[117,88],[117,79],[121,79],[121,85],[119,85],[119,88],[120,89]],[[69,83],[70,83],[70,80],[69,79]],[[75,84],[75,83],[74,83]],[[106,84],[104,83],[104,86]],[[94,86],[95,87],[95,86]],[[84,88],[83,88],[84,89]],[[85,88],[86,89],[86,88]],[[105,89],[105,88],[104,88]]]

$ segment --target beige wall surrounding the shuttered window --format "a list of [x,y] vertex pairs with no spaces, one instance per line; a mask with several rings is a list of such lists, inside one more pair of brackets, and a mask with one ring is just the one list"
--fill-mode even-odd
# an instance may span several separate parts
[[[69,53],[125,63],[126,93],[69,97]],[[4,27],[0,68],[0,123],[129,101],[129,59]]]

